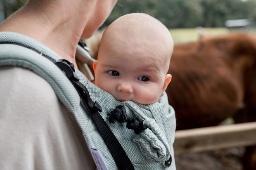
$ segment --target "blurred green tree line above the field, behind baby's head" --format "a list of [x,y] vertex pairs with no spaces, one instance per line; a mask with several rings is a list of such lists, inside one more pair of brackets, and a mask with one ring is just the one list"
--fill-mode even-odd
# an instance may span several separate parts
[[256,19],[256,0],[118,0],[104,23],[132,12],[145,12],[168,28],[223,27],[229,19]]

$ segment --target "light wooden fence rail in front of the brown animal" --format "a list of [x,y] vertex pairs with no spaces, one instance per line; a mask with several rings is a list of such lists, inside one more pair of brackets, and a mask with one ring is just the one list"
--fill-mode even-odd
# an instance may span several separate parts
[[174,153],[256,145],[256,122],[177,130]]

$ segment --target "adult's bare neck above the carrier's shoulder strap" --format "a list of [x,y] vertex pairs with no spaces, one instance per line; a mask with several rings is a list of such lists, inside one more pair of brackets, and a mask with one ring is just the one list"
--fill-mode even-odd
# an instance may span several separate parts
[[3,22],[0,31],[21,33],[33,38],[76,66],[76,45],[87,23],[86,11],[77,11],[81,7],[73,11],[68,8],[68,11],[61,5],[34,7],[28,4]]

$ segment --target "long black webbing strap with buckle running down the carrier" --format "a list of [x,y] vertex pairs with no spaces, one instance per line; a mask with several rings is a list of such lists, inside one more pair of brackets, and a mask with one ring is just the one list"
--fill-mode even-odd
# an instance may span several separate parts
[[75,70],[73,68],[73,64],[71,64],[69,61],[64,59],[55,61],[55,59],[52,59],[51,57],[39,52],[33,47],[28,47],[21,43],[0,42],[0,44],[14,44],[14,45],[19,45],[19,46],[31,49],[37,52],[38,54],[46,57],[47,59],[50,59],[50,61],[55,63],[62,71],[64,71],[66,73],[66,76],[69,78],[69,80],[73,84],[73,86],[76,88],[85,106],[85,109],[88,111],[88,113],[92,117],[92,120],[95,123],[97,129],[99,130],[100,135],[102,136],[104,142],[106,143],[109,149],[109,152],[114,158],[117,168],[119,170],[134,170],[133,164],[128,158],[123,147],[121,146],[119,141],[116,139],[114,133],[110,130],[109,126],[100,115],[99,113],[99,111],[101,111],[100,105],[97,102],[92,101],[87,88],[81,82],[79,82],[79,78],[76,76]]

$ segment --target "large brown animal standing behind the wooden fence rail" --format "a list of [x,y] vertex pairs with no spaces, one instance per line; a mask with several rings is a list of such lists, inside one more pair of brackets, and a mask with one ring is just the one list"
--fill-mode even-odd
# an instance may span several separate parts
[[[99,41],[94,45],[97,54]],[[175,45],[169,73],[166,92],[177,130],[215,126],[228,117],[236,123],[256,121],[255,35],[235,33]],[[244,169],[256,169],[255,154],[255,147],[247,148]]]

